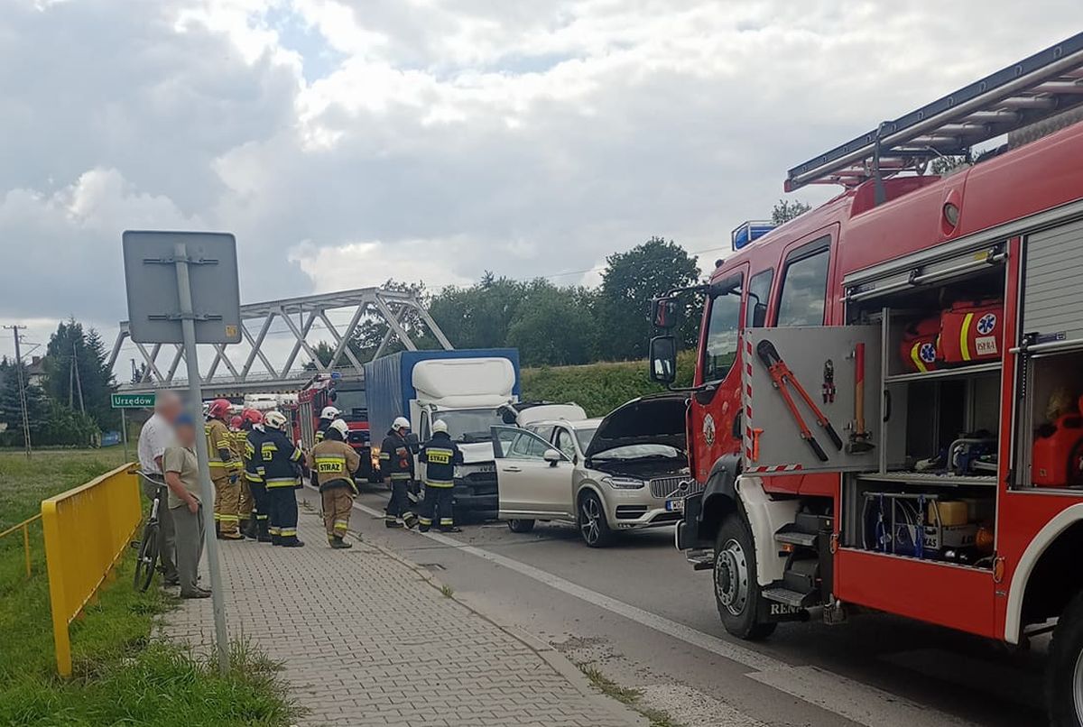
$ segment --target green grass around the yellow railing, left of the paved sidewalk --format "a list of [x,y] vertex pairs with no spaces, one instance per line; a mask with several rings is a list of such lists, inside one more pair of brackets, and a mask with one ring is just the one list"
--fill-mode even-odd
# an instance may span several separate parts
[[[0,530],[39,512],[42,498],[121,464],[119,448],[45,450],[29,461],[0,451]],[[155,616],[174,604],[159,589],[131,587],[131,557],[96,605],[71,626],[75,673],[55,676],[49,582],[40,524],[30,531],[27,580],[22,537],[0,540],[0,725],[288,725],[291,708],[274,664],[234,645],[234,669],[154,639]]]

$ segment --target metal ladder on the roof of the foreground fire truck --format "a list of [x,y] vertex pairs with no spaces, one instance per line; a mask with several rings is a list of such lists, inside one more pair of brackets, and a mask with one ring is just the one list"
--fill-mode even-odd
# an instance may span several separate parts
[[[1083,106],[1083,32],[934,101],[790,170],[785,190],[847,188],[981,144]],[[878,195],[877,195],[878,196]]]

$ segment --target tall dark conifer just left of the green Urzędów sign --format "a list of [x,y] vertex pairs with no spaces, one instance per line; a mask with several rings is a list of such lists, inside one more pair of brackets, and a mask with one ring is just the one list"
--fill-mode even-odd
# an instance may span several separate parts
[[62,321],[45,349],[45,393],[58,404],[82,411],[102,428],[115,427],[120,417],[109,401],[116,391],[101,335],[83,331],[82,323]]

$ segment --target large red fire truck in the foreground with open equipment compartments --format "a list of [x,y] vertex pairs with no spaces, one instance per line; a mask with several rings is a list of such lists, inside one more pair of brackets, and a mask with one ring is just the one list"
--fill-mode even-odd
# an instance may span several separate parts
[[705,301],[669,505],[731,634],[861,609],[1052,631],[1052,723],[1083,724],[1080,110],[1083,34],[792,169],[845,190],[654,302],[671,384]]

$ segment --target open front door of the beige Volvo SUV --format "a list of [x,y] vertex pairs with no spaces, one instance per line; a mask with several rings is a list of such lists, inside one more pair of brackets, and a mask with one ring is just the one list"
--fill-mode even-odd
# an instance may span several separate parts
[[517,426],[493,427],[493,452],[496,455],[498,517],[571,517],[574,467],[567,455],[536,434]]

